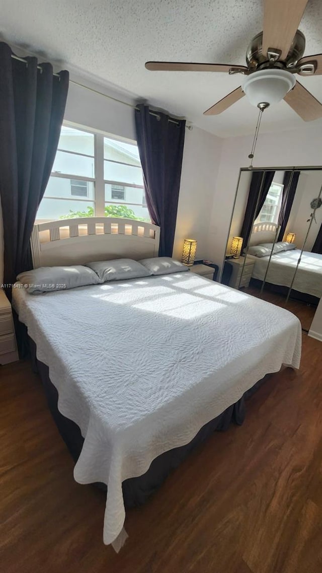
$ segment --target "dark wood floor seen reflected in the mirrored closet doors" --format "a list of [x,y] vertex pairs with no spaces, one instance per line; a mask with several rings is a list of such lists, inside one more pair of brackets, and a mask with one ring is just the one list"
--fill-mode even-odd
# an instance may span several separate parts
[[261,295],[261,289],[256,288],[256,286],[248,286],[248,288],[242,289],[242,292],[248,293],[248,295],[256,296],[266,300],[268,303],[277,304],[278,307],[286,308],[288,311],[293,312],[294,315],[300,320],[302,328],[309,331],[311,328],[311,323],[313,316],[315,315],[316,307],[313,305],[308,305],[301,302],[300,300],[289,299],[287,305],[286,296],[277,295],[275,292],[263,291]]

